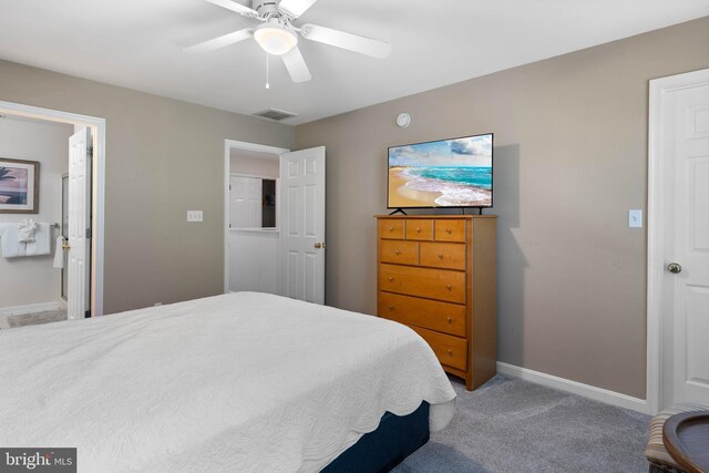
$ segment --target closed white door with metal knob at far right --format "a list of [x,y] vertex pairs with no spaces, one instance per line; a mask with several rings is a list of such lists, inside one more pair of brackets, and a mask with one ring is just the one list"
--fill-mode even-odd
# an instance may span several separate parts
[[709,405],[709,70],[665,91],[662,405]]

